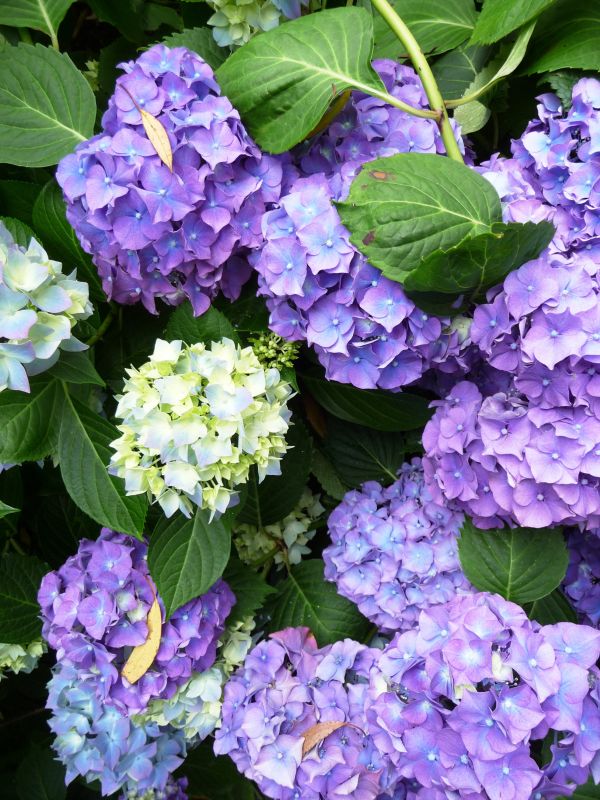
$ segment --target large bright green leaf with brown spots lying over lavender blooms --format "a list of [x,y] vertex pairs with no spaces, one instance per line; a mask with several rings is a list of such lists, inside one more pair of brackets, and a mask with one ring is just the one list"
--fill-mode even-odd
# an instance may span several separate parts
[[369,162],[336,206],[350,241],[396,281],[434,251],[487,233],[502,219],[489,181],[465,164],[425,153]]

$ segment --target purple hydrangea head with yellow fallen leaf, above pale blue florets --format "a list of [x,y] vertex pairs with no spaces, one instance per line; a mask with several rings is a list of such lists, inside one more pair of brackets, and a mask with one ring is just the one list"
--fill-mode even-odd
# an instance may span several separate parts
[[103,528],[96,541],[83,539],[74,556],[44,577],[38,594],[42,634],[59,664],[77,669],[82,683],[102,682],[107,701],[124,715],[143,711],[153,698],[173,696],[192,673],[213,665],[235,602],[220,580],[175,611],[163,624],[152,666],[130,684],[121,668],[130,648],[146,641],[146,619],[158,597],[146,555],[144,541]]

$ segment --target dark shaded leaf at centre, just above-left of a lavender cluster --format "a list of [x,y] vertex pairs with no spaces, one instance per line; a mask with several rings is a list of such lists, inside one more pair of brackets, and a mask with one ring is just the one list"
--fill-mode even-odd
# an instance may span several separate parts
[[325,452],[346,486],[355,489],[365,481],[388,486],[404,461],[405,442],[399,433],[384,433],[331,420]]

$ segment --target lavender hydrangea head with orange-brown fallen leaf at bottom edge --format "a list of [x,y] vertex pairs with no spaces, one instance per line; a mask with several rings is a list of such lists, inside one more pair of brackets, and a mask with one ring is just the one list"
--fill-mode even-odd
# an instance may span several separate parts
[[[374,800],[389,781],[386,759],[365,730],[376,658],[350,639],[319,649],[306,628],[273,634],[225,687],[215,753],[228,754],[277,800]],[[326,726],[335,722],[336,730]]]

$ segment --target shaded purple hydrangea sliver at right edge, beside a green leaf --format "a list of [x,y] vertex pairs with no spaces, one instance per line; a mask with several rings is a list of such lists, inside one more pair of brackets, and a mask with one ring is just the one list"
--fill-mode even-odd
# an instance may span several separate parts
[[600,629],[600,532],[572,531],[563,591],[581,622]]

